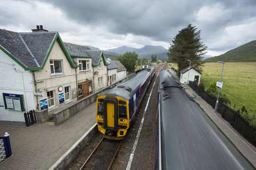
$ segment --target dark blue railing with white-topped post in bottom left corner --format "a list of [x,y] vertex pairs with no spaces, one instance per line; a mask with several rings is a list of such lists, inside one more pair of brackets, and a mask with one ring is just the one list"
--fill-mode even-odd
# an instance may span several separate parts
[[5,132],[3,137],[0,137],[0,163],[12,156],[10,143],[10,135]]

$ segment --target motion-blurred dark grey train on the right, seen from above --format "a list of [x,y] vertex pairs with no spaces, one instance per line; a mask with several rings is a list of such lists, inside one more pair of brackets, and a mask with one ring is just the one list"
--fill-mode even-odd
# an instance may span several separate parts
[[154,169],[254,169],[168,70],[158,80]]

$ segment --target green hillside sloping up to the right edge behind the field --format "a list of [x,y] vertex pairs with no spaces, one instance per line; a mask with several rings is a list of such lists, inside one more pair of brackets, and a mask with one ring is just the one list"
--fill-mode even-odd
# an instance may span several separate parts
[[246,43],[242,46],[229,50],[227,53],[224,53],[219,56],[212,58],[207,58],[206,62],[217,62],[217,61],[256,61],[256,40]]

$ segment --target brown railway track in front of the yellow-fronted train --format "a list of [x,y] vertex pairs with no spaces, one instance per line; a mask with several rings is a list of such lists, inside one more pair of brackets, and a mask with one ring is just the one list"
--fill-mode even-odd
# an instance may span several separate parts
[[121,145],[122,140],[102,138],[79,170],[110,169]]

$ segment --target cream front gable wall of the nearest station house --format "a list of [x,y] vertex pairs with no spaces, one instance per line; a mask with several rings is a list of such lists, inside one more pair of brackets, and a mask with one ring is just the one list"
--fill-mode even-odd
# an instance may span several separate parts
[[[50,67],[50,60],[62,60],[62,74],[52,75],[51,74],[51,67]],[[77,69],[79,70],[79,69]],[[47,91],[54,90],[54,104],[55,106],[51,109],[55,109],[59,107],[58,102],[58,88],[60,86],[63,87],[63,90],[61,92],[65,91],[66,86],[71,87],[71,100],[70,101],[76,101],[76,73],[75,69],[72,68],[63,53],[58,41],[55,42],[51,54],[49,58],[47,59],[44,69],[40,71],[35,71],[35,77],[37,82],[37,89],[39,93],[43,94],[43,97],[38,97],[39,99],[47,98]],[[69,103],[70,101],[65,101],[65,104]],[[35,103],[38,101],[35,101]],[[65,105],[64,104],[64,105]],[[51,110],[50,109],[50,110]]]

